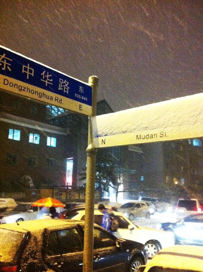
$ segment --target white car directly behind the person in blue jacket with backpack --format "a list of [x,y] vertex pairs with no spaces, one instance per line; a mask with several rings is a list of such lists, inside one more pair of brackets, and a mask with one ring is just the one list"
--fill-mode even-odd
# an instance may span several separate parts
[[[95,210],[94,214],[94,222],[101,226],[103,214],[98,210]],[[117,232],[113,232],[114,236],[144,244],[149,258],[156,255],[160,249],[174,245],[172,233],[134,225],[120,212],[114,212],[114,215],[119,222]],[[85,210],[77,211],[72,217],[69,216],[69,219],[85,220]]]

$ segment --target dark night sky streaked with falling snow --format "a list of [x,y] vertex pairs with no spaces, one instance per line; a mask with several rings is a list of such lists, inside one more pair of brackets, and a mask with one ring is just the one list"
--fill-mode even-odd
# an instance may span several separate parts
[[0,0],[0,44],[88,82],[114,111],[202,92],[202,0]]

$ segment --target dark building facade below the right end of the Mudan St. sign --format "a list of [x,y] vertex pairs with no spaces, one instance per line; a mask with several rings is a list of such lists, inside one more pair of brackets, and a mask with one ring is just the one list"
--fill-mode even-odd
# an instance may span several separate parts
[[203,185],[203,141],[186,139],[164,143],[167,184]]

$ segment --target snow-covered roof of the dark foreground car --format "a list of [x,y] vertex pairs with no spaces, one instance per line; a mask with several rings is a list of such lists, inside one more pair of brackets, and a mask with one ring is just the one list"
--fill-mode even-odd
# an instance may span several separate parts
[[[11,231],[39,231],[43,230],[44,228],[49,227],[57,227],[62,225],[71,225],[73,224],[74,220],[68,220],[68,219],[40,219],[40,220],[28,220],[28,221],[22,221],[17,223],[10,223],[10,224],[3,224],[0,225],[0,228],[8,229]],[[80,222],[80,221],[75,221]]]

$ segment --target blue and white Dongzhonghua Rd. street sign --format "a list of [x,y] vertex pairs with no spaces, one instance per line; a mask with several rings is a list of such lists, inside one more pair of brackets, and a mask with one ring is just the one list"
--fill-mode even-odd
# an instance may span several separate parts
[[92,87],[0,46],[0,88],[60,108],[91,115]]

